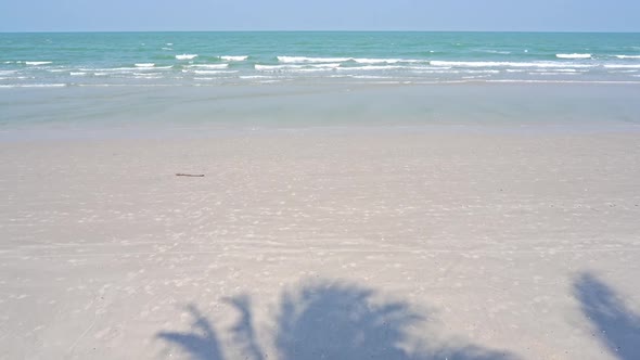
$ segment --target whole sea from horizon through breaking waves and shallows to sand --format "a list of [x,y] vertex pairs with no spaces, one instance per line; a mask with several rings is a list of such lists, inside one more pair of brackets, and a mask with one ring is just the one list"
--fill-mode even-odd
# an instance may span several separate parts
[[640,34],[0,34],[0,141],[640,131],[638,99]]

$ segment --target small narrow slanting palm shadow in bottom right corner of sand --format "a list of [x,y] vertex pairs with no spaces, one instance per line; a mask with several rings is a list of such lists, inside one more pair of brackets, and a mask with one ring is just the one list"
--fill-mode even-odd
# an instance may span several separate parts
[[574,282],[574,294],[614,357],[640,359],[640,316],[628,309],[613,288],[593,274],[583,273]]

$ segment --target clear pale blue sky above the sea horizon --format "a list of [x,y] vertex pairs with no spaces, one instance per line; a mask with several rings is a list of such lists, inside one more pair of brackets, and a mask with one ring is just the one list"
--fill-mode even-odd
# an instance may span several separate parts
[[0,31],[640,31],[640,0],[0,0]]

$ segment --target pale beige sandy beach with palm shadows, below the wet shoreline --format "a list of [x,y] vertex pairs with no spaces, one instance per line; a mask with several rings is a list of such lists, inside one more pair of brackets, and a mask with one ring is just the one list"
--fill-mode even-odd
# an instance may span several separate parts
[[637,133],[39,141],[0,160],[1,359],[640,358]]

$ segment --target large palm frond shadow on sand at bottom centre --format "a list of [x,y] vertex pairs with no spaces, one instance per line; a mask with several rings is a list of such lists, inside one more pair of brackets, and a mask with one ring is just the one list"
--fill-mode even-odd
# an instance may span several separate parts
[[[380,301],[370,288],[344,282],[317,281],[284,293],[276,319],[273,340],[278,359],[515,359],[504,351],[450,340],[415,339],[409,335],[425,317],[400,301]],[[243,359],[264,360],[256,338],[248,296],[228,299],[240,318],[230,329],[235,350]],[[185,333],[156,336],[181,348],[194,360],[220,360],[214,326],[191,306],[194,322]]]

